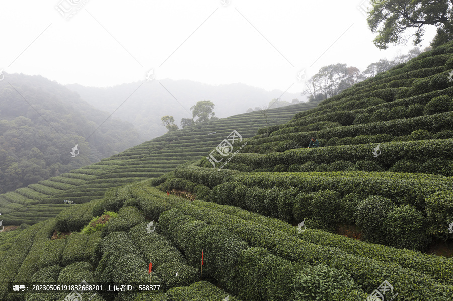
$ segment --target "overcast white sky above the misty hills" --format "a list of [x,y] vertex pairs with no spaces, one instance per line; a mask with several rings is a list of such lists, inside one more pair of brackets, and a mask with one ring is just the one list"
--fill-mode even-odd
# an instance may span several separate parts
[[[296,93],[302,69],[310,77],[340,62],[363,71],[414,47],[376,48],[362,0],[223,1],[0,0],[0,70],[106,87],[154,69],[156,80]],[[58,6],[82,8],[63,17]],[[428,28],[424,46],[434,34]]]

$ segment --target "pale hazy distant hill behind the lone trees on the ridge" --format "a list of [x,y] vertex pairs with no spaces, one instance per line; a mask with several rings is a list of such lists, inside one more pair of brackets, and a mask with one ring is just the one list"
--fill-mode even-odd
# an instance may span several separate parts
[[[175,124],[180,127],[182,118],[192,118],[190,107],[198,101],[212,101],[215,104],[215,116],[224,118],[245,113],[249,108],[267,106],[272,99],[283,94],[280,90],[266,91],[242,83],[213,86],[190,80],[171,79],[144,82],[140,86],[141,83],[133,82],[108,88],[85,87],[79,84],[68,84],[66,87],[77,92],[82,99],[98,109],[107,112],[118,109],[113,116],[132,123],[146,140],[166,133],[167,130],[161,122],[162,116],[173,116]],[[138,86],[140,87],[137,89]],[[134,92],[135,89],[137,90]],[[282,100],[289,103],[292,99],[306,101],[305,98],[297,93],[284,93],[281,96]],[[273,108],[275,107],[271,109]]]

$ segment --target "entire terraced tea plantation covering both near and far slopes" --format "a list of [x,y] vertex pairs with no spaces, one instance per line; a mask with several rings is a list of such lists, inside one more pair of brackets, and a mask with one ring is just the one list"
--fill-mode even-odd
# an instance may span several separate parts
[[106,301],[453,300],[451,70],[447,43],[287,122],[176,131],[2,196],[11,223],[67,209],[0,233],[0,299],[85,280],[159,285],[83,293]]

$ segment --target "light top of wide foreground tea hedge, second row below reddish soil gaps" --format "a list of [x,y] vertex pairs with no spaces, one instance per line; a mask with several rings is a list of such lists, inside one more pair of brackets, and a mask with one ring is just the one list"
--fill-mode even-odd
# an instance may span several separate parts
[[[168,220],[169,222],[166,222],[168,223],[168,227],[166,228],[175,229],[175,227],[171,224],[181,224],[181,220],[173,222],[172,219],[175,219],[175,217],[184,216],[185,220],[190,220],[190,217],[187,217],[186,215],[190,214],[191,216],[194,216],[196,218],[209,221],[209,223],[216,224],[218,226],[221,225],[226,230],[230,231],[227,233],[238,235],[248,244],[266,248],[267,250],[272,252],[272,254],[280,256],[283,259],[309,264],[324,263],[339,270],[344,269],[354,278],[358,285],[361,285],[361,287],[365,291],[373,291],[375,287],[379,286],[379,284],[381,283],[382,279],[376,279],[376,274],[379,274],[381,275],[381,277],[388,279],[388,281],[392,284],[396,283],[397,286],[401,287],[401,289],[405,291],[405,294],[407,293],[408,297],[414,299],[423,299],[424,296],[430,295],[431,298],[434,298],[436,300],[445,300],[446,296],[449,293],[448,290],[451,290],[451,288],[448,288],[448,286],[441,285],[433,281],[432,278],[427,277],[423,273],[419,274],[413,270],[402,268],[401,266],[393,262],[380,262],[379,260],[374,259],[374,256],[372,254],[369,254],[370,257],[357,257],[343,251],[339,251],[339,249],[335,247],[322,247],[319,245],[311,244],[308,241],[301,242],[297,239],[294,239],[295,237],[293,237],[293,234],[286,234],[274,228],[264,227],[258,223],[244,221],[236,218],[233,215],[223,216],[219,215],[218,212],[209,212],[206,210],[201,212],[199,208],[192,208],[192,206],[193,205],[191,204],[187,204],[187,206],[178,210],[175,210],[174,208],[170,210],[172,211],[171,215],[170,211],[163,213],[163,215],[168,215],[166,217],[166,220]],[[293,228],[291,227],[291,229]],[[179,229],[177,229],[177,231],[178,230]],[[309,230],[307,229],[305,232],[307,231]],[[185,235],[185,237],[192,237],[193,244],[198,245],[197,249],[201,249],[201,246],[203,244],[200,244],[199,240],[203,237],[203,235],[197,236],[193,235],[193,233],[185,233]],[[189,245],[190,243],[191,242],[186,242],[186,244]],[[258,258],[259,257],[260,256],[258,256]],[[207,255],[205,258],[207,262]],[[195,257],[195,262],[198,262],[198,259],[199,257]],[[272,267],[275,268],[275,265],[273,265]],[[266,269],[267,268],[263,268],[263,270]],[[407,275],[410,275],[410,277],[408,278]],[[414,284],[414,281],[421,281],[419,283],[424,284]],[[416,287],[420,287],[419,285],[426,287],[427,289],[416,289]],[[428,287],[430,288],[428,289]],[[249,288],[247,288],[247,290],[249,290]],[[261,289],[257,291],[260,290]]]

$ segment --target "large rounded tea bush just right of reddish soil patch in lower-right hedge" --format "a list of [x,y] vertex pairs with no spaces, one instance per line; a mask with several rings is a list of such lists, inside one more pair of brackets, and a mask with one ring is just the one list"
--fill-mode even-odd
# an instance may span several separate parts
[[394,206],[390,199],[376,195],[368,196],[359,204],[356,221],[357,225],[362,227],[364,239],[376,244],[387,243],[385,221]]

